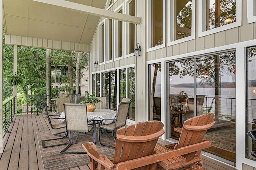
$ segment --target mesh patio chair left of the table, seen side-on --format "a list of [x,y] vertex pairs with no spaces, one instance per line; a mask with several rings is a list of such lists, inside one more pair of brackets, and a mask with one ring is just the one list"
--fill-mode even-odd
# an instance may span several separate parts
[[[44,101],[41,101],[42,104],[44,105],[44,111],[45,111],[45,114],[46,114],[46,117],[49,121],[49,124],[51,126],[52,129],[62,129],[62,128],[66,128],[66,124],[65,123],[52,123],[52,120],[54,119],[60,119],[60,118],[50,118],[49,116],[49,113],[48,113],[48,107],[46,106],[45,102]],[[63,118],[64,119],[64,118]],[[61,133],[64,133],[64,135],[59,135]],[[67,143],[62,143],[62,144],[58,144],[58,145],[50,145],[50,146],[45,146],[45,142],[46,141],[53,141],[53,140],[58,140],[58,139],[63,139],[64,137],[67,136],[67,132],[66,132],[66,129],[64,132],[60,132],[60,133],[55,133],[53,134],[55,136],[59,136],[61,138],[55,138],[55,139],[48,139],[48,140],[43,140],[42,141],[42,147],[43,148],[48,148],[48,147],[56,147],[56,146],[60,146],[60,145],[66,145]]]

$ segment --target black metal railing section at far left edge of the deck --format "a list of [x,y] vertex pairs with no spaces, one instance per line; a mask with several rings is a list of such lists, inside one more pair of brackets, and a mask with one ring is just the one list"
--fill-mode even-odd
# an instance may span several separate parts
[[14,117],[14,98],[3,104],[3,137],[6,133],[9,133],[8,127],[13,122]]

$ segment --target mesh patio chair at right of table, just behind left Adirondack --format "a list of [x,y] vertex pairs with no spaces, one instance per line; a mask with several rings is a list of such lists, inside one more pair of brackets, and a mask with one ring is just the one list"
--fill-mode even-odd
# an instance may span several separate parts
[[[130,102],[121,102],[118,105],[118,109],[117,109],[117,113],[116,113],[116,117],[115,119],[102,119],[99,123],[98,123],[98,138],[99,138],[99,143],[100,145],[104,146],[104,147],[109,147],[109,148],[113,148],[107,145],[104,145],[101,141],[100,141],[100,133],[102,132],[102,129],[107,133],[107,131],[112,131],[112,136],[114,139],[116,139],[116,137],[114,136],[114,130],[119,129],[120,127],[123,127],[126,125],[126,119],[129,113],[129,108],[130,108],[130,104],[132,101]],[[104,124],[101,125],[102,121],[104,120],[112,120],[113,122],[110,124]]]

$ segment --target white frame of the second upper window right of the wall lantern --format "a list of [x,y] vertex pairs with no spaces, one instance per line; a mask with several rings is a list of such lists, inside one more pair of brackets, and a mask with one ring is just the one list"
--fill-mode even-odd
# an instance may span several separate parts
[[183,43],[185,41],[189,41],[195,39],[195,30],[196,30],[196,0],[192,0],[192,26],[191,26],[191,35],[188,37],[184,37],[182,39],[174,40],[174,0],[168,0],[167,2],[167,37],[168,42],[167,46]]

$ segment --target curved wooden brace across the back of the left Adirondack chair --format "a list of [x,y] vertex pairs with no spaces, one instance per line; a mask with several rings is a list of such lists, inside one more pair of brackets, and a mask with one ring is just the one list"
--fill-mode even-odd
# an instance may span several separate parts
[[146,135],[146,136],[126,136],[126,135],[116,135],[116,139],[124,142],[147,142],[152,141],[152,139],[158,139],[164,134],[164,129],[161,129],[157,133]]

